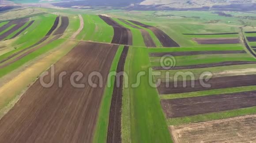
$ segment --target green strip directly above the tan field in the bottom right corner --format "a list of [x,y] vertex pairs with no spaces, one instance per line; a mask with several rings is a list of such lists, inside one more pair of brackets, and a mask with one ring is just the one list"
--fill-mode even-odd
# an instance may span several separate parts
[[168,125],[183,125],[183,124],[205,122],[205,121],[231,118],[231,117],[237,117],[237,116],[255,114],[255,113],[256,113],[256,107],[248,107],[248,108],[241,108],[236,110],[209,113],[209,114],[200,114],[200,115],[188,116],[188,117],[182,117],[182,118],[171,118],[171,119],[168,119],[167,122],[168,122]]

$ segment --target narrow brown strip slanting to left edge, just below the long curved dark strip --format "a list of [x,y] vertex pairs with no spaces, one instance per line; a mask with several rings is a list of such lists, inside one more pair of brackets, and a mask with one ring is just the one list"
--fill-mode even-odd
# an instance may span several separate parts
[[32,52],[34,52],[35,50],[38,50],[38,49],[40,49],[40,48],[46,46],[46,45],[49,44],[49,43],[52,43],[52,42],[55,41],[56,39],[59,39],[61,36],[62,36],[62,35],[56,35],[55,37],[53,37],[53,39],[50,39],[48,42],[46,42],[46,43],[44,43],[44,44],[41,44],[40,46],[37,46],[37,47],[35,47],[35,48],[33,48],[33,49],[30,49],[30,50],[26,51],[24,54],[21,54],[19,57],[16,57],[15,59],[13,59],[13,60],[11,60],[11,61],[8,61],[7,63],[4,63],[3,65],[0,65],[0,68],[4,68],[4,67],[6,67],[6,66],[8,66],[8,65],[10,65],[10,64],[12,64],[12,63],[14,63],[14,62],[16,62],[16,61],[19,61],[19,59],[25,57],[26,55],[28,55],[28,54],[30,54],[30,53],[32,53]]

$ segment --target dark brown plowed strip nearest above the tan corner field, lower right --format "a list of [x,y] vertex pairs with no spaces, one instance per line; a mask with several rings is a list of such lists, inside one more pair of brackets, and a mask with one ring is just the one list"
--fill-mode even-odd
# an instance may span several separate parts
[[256,91],[161,100],[167,118],[192,116],[256,106]]

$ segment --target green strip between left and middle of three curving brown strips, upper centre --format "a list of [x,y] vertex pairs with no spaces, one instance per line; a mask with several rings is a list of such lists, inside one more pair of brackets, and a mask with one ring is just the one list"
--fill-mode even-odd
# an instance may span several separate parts
[[124,27],[128,28],[132,32],[132,46],[146,46],[144,43],[143,36],[139,29],[132,28],[132,26],[125,24],[124,22],[120,21],[117,18],[112,18],[118,24],[123,25]]

